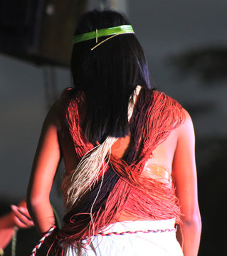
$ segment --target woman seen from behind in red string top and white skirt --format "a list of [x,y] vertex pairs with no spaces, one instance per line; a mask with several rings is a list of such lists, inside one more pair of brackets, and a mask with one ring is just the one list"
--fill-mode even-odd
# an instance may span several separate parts
[[28,186],[38,231],[55,225],[49,193],[63,157],[64,225],[47,242],[54,254],[197,255],[189,114],[151,89],[143,50],[122,15],[84,14],[73,42],[74,89],[46,117]]

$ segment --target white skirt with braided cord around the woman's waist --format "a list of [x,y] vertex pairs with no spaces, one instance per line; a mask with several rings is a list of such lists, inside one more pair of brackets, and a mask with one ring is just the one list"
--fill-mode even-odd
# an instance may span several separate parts
[[[81,252],[68,248],[66,256],[183,256],[176,240],[175,220],[136,220],[109,225],[102,232],[122,235],[95,235],[92,244]],[[154,230],[143,233],[140,231]],[[164,232],[157,230],[165,230]],[[125,232],[137,233],[125,233]]]

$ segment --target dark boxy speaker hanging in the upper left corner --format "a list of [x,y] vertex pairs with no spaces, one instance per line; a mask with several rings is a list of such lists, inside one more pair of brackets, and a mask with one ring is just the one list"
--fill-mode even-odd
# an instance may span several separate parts
[[0,52],[39,65],[70,63],[87,0],[0,0]]

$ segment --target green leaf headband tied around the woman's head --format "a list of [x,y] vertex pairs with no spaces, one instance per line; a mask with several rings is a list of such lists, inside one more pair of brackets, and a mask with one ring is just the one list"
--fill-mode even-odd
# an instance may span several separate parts
[[102,28],[100,30],[95,30],[88,33],[83,33],[77,36],[73,36],[73,43],[80,43],[83,41],[87,41],[93,38],[97,38],[101,36],[110,36],[109,38],[106,38],[102,42],[98,43],[95,47],[93,47],[90,50],[94,50],[97,46],[100,46],[101,43],[104,43],[105,41],[109,40],[110,38],[113,38],[114,36],[118,36],[125,33],[134,33],[133,28],[131,25],[122,25],[122,26],[115,26],[112,28]]

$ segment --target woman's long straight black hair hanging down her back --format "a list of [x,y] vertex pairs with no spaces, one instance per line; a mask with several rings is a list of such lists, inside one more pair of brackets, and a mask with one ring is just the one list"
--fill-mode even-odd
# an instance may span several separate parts
[[[80,17],[75,35],[129,24],[116,11],[89,11]],[[83,131],[92,143],[125,137],[130,96],[137,85],[151,89],[147,61],[134,34],[115,36],[91,50],[95,45],[95,39],[75,43],[70,65],[75,90],[85,95]]]

